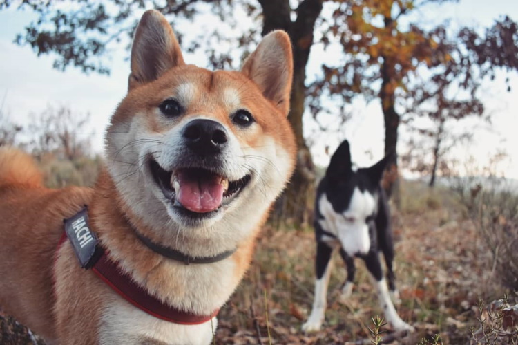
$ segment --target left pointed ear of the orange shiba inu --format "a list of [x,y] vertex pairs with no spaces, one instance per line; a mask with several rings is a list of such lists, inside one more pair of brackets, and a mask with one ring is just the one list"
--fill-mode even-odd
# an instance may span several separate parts
[[180,46],[167,19],[157,10],[144,12],[131,47],[128,89],[152,82],[169,68],[184,64]]

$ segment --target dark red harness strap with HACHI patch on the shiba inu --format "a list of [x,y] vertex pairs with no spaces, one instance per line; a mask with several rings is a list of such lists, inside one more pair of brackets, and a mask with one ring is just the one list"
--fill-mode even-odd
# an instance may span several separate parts
[[57,249],[59,250],[61,244],[68,239],[81,268],[91,268],[97,277],[133,306],[158,319],[182,325],[203,324],[218,315],[219,309],[214,310],[211,315],[188,313],[150,295],[122,270],[117,261],[109,257],[107,250],[102,248],[95,233],[90,230],[86,207],[75,216],[65,219],[64,223],[65,231],[61,235]]

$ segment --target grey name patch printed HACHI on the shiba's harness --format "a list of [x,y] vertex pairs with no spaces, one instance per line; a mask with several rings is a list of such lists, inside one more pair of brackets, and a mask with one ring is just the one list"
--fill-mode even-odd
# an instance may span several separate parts
[[81,268],[91,268],[99,259],[102,250],[97,246],[97,236],[90,230],[87,209],[64,220],[65,232],[79,259]]

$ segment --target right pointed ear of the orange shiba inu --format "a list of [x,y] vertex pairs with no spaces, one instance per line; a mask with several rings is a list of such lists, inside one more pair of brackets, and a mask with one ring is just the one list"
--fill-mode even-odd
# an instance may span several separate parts
[[259,86],[262,94],[274,102],[282,114],[288,115],[293,56],[286,32],[276,30],[266,35],[244,62],[241,72]]

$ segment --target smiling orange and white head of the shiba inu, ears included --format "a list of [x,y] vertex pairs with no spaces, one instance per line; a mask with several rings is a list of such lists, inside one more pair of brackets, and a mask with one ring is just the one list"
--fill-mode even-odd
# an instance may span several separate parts
[[128,95],[108,127],[108,171],[124,207],[155,238],[197,254],[231,248],[265,218],[294,169],[293,73],[285,32],[242,70],[187,65],[160,12],[144,14]]

